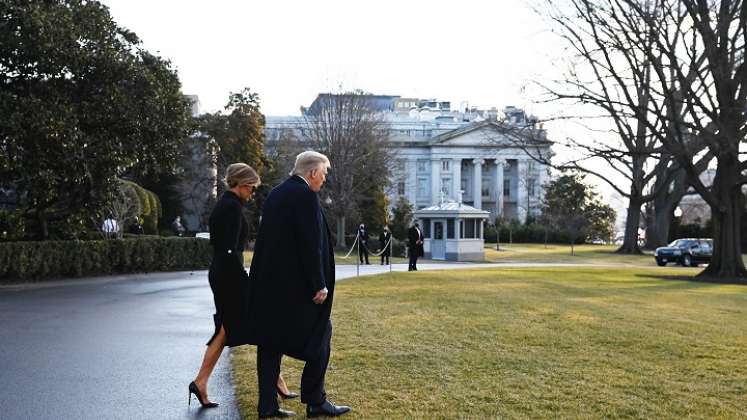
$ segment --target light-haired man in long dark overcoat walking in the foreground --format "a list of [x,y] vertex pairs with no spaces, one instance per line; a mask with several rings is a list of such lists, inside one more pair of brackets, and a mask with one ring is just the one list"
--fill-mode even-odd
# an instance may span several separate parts
[[330,231],[317,193],[329,159],[307,151],[292,176],[265,200],[249,272],[247,328],[257,344],[260,418],[294,415],[279,407],[275,389],[281,355],[304,360],[301,401],[308,417],[350,410],[327,400],[324,377],[332,338],[335,263]]

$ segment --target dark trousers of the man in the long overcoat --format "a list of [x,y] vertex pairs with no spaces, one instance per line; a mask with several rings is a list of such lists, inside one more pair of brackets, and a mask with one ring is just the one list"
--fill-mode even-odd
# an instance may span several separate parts
[[[324,376],[327,374],[327,365],[329,364],[331,340],[332,322],[330,321],[324,333],[322,351],[318,358],[307,361],[303,367],[301,402],[304,404],[318,405],[327,399],[327,392],[324,390]],[[259,377],[257,410],[260,413],[269,413],[279,407],[277,383],[280,375],[281,356],[281,353],[266,346],[257,346],[257,376]]]

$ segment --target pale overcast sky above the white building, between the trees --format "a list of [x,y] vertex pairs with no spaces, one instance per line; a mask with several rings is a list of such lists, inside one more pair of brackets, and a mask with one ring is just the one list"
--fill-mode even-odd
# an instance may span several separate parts
[[298,115],[317,93],[531,106],[522,86],[553,37],[523,0],[105,0],[115,21],[172,60],[205,111],[245,86],[267,115]]

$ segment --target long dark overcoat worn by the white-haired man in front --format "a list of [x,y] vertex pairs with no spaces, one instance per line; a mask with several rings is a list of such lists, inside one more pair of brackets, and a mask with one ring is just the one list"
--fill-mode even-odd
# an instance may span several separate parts
[[[334,298],[334,253],[319,198],[303,178],[292,176],[267,196],[249,277],[249,343],[318,358]],[[326,301],[315,304],[325,287]]]

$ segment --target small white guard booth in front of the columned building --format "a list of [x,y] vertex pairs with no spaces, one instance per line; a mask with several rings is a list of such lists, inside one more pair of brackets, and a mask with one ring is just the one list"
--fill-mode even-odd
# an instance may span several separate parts
[[454,201],[414,212],[423,230],[425,258],[447,261],[484,261],[483,224],[488,219],[479,210]]

